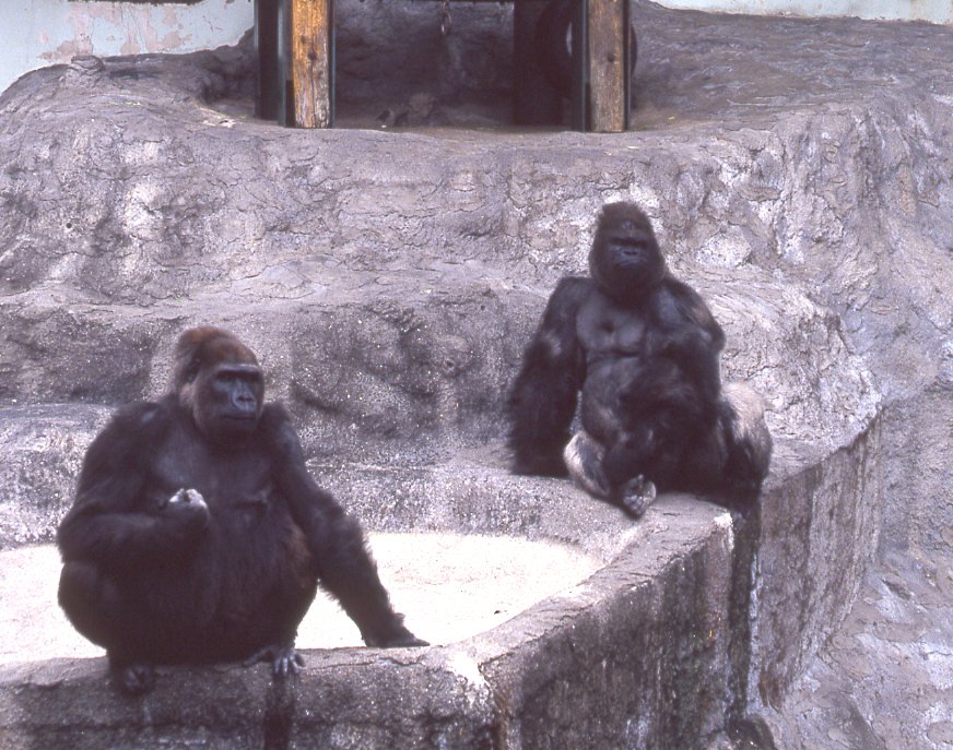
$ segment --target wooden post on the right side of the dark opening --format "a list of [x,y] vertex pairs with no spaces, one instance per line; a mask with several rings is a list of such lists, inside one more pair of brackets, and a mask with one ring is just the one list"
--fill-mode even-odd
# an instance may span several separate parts
[[588,130],[617,133],[630,119],[628,0],[588,0]]

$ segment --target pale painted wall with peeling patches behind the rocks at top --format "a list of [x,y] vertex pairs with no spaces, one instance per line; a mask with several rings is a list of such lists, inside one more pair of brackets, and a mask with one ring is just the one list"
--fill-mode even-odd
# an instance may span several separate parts
[[[732,13],[857,15],[953,24],[953,0],[662,0]],[[234,44],[251,27],[252,0],[193,5],[105,0],[0,0],[0,91],[34,68],[73,55],[190,52]]]

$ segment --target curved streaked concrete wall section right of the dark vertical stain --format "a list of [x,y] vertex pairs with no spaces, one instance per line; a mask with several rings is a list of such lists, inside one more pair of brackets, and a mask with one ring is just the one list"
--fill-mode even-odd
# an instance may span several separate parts
[[880,436],[876,419],[849,444],[801,463],[780,447],[762,497],[752,705],[781,705],[857,595],[878,546]]

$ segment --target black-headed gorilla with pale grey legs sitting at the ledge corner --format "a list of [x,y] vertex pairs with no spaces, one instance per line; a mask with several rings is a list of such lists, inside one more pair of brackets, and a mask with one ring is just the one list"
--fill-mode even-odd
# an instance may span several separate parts
[[[657,490],[713,495],[745,511],[767,474],[761,400],[721,391],[725,334],[666,269],[648,217],[603,207],[591,278],[556,286],[509,394],[517,474],[564,476],[638,517]],[[579,429],[569,426],[581,391]]]

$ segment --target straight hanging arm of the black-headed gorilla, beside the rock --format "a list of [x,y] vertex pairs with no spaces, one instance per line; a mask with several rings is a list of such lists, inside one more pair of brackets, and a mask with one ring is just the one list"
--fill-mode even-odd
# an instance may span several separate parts
[[516,474],[566,475],[563,449],[569,441],[569,425],[586,379],[576,317],[592,287],[589,278],[563,278],[522,355],[508,404],[507,444]]

